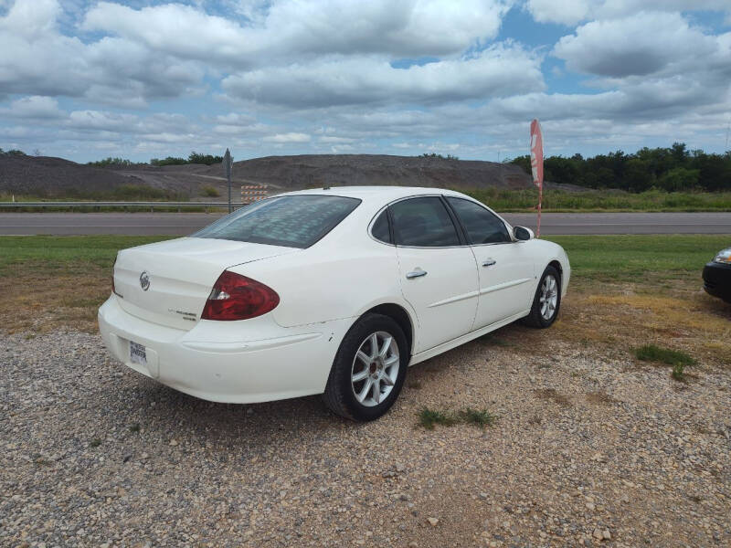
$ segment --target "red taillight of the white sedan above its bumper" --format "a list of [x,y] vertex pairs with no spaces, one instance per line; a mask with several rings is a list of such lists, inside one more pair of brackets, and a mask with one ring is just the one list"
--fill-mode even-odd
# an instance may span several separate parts
[[247,320],[274,310],[280,303],[275,290],[234,272],[224,270],[208,295],[202,320]]

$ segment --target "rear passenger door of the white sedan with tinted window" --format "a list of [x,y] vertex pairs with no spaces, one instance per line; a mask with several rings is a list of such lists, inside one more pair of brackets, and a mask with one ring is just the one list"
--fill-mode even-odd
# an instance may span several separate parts
[[407,198],[388,211],[401,290],[418,317],[415,353],[470,332],[477,311],[477,263],[442,198]]

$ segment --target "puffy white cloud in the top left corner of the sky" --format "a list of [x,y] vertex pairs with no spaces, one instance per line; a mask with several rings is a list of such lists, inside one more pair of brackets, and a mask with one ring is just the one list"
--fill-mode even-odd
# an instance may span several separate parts
[[83,97],[143,106],[185,93],[203,72],[128,40],[85,44],[58,31],[56,0],[16,0],[0,17],[0,89],[5,93]]

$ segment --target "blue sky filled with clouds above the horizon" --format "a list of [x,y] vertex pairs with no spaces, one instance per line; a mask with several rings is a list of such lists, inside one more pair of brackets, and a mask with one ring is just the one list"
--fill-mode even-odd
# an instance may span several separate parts
[[0,148],[731,148],[730,0],[0,0]]

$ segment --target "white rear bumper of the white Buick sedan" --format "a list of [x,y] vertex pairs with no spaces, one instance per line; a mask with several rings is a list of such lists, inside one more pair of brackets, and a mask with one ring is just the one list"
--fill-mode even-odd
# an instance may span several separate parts
[[[112,295],[98,319],[115,358],[185,394],[246,404],[323,393],[352,320],[282,328],[266,316],[199,321],[185,331],[137,318]],[[146,364],[132,363],[131,341],[145,347]]]

